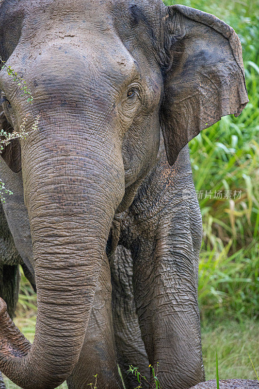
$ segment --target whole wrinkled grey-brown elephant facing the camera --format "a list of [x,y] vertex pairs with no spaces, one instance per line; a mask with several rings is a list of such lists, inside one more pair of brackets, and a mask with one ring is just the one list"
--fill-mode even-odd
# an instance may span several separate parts
[[[188,142],[248,102],[238,36],[162,0],[1,0],[0,55],[33,95],[2,67],[0,127],[26,116],[28,134],[1,152],[14,194],[0,371],[24,389],[87,388],[95,374],[122,389],[117,365],[132,388],[129,364],[146,377],[158,364],[164,389],[203,381]],[[37,291],[32,344],[12,320],[19,264]]]

